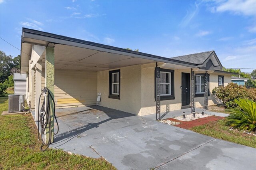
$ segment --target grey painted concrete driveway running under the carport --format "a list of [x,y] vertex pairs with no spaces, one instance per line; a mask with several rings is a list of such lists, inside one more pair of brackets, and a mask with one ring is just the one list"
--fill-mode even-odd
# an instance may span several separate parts
[[[57,109],[54,148],[104,157],[120,170],[252,170],[256,149],[105,107]],[[98,117],[98,118],[97,118]]]

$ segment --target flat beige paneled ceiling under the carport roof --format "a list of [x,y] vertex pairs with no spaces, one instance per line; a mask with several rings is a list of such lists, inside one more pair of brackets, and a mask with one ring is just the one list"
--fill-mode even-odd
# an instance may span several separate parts
[[[62,44],[55,45],[54,55],[55,69],[78,71],[103,71],[129,65],[156,62],[149,59]],[[45,55],[42,56],[42,67],[44,68],[44,66]]]

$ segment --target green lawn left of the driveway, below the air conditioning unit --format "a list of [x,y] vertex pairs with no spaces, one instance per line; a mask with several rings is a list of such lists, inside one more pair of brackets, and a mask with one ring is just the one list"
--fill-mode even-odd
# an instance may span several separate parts
[[[5,110],[8,110],[8,95],[0,97],[0,113]],[[103,158],[87,158],[58,149],[42,152],[39,147],[30,114],[0,115],[0,169],[116,169]]]

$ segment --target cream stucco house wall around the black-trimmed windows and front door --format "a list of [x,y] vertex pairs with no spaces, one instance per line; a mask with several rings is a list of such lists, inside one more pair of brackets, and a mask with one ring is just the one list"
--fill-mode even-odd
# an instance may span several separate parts
[[[170,68],[169,68],[170,69]],[[134,65],[120,68],[121,89],[120,100],[108,98],[108,71],[98,72],[98,93],[102,93],[101,105],[112,109],[126,111],[136,115],[149,115],[156,113],[155,102],[155,63],[145,65]],[[161,101],[161,112],[174,111],[181,109],[181,74],[191,73],[189,69],[174,70],[174,93],[175,99]],[[203,73],[198,72],[198,73]],[[210,73],[210,96],[208,104],[220,103],[212,95],[212,89],[218,87],[218,73]],[[224,75],[224,85],[231,82],[231,75]],[[140,96],[139,96],[140,95]],[[203,107],[204,97],[195,98],[196,107]]]

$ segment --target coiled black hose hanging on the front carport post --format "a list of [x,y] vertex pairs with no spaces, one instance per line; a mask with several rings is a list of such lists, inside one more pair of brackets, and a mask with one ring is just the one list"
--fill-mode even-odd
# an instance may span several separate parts
[[[47,87],[44,87],[44,89],[42,89],[42,91],[43,92],[41,93],[41,95],[39,97],[39,101],[38,101],[38,115],[37,115],[38,123],[37,123],[37,127],[38,127],[38,140],[40,140],[40,137],[39,137],[39,121],[40,121],[41,139],[42,139],[42,145],[40,146],[40,150],[45,151],[49,147],[49,145],[51,143],[51,139],[53,137],[52,136],[51,117],[50,117],[50,98],[53,101],[53,107],[54,107],[53,114],[54,114],[54,118],[55,118],[57,128],[58,128],[57,132],[54,133],[54,134],[58,134],[59,125],[58,125],[58,121],[57,121],[56,116],[55,116],[55,102],[54,102],[54,99],[53,99],[52,95],[49,93],[49,89]],[[44,101],[43,101],[42,107],[39,111],[41,96],[42,96],[43,93],[46,94],[47,92],[48,92],[48,97],[46,98],[46,96],[44,96]],[[44,142],[43,134],[44,134],[44,132],[46,131],[47,128],[49,129],[49,133],[50,133],[49,134],[49,139],[48,139],[48,141]],[[44,146],[46,146],[46,148],[43,149]]]

